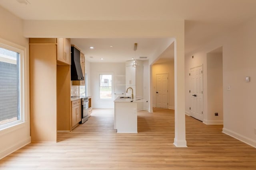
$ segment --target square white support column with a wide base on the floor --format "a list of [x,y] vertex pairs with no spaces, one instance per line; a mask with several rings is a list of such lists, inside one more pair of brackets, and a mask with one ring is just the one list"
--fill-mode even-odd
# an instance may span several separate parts
[[176,147],[187,147],[185,128],[185,55],[184,33],[174,41],[174,102]]

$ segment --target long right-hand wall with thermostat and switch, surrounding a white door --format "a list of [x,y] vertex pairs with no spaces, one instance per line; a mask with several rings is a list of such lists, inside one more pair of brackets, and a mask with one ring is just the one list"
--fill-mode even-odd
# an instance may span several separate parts
[[[189,110],[189,68],[203,64],[205,119],[205,116],[208,116],[206,56],[210,51],[223,47],[223,132],[254,147],[256,147],[256,134],[254,134],[254,128],[256,128],[255,30],[256,18],[252,18],[185,57],[186,111]],[[246,76],[251,77],[250,82],[245,82]],[[231,87],[230,91],[227,90],[228,86]]]

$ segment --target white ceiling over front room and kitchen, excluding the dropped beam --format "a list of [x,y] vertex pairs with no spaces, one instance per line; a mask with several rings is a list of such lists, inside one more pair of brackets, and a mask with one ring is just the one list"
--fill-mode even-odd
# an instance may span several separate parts
[[[0,0],[0,6],[23,20],[185,20],[185,54],[256,16],[256,0],[27,0],[28,4],[18,1]],[[162,40],[165,41],[71,39],[71,42],[90,62],[121,62],[134,56],[149,57]],[[138,43],[136,54],[134,43]],[[99,61],[99,57],[104,60]]]

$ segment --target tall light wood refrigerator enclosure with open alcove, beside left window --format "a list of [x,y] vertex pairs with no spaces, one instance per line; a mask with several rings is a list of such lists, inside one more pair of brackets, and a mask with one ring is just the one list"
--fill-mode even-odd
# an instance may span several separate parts
[[[71,130],[70,64],[63,64],[57,60],[58,54],[60,55],[59,47],[64,53],[63,40],[29,39],[32,99],[30,120],[37,122],[31,124],[32,142],[56,142],[57,131]],[[65,45],[70,48],[70,43],[67,45],[69,39],[66,40],[68,41]],[[66,50],[69,50],[68,47]],[[70,59],[70,52],[67,51],[65,53],[69,55],[66,59]]]

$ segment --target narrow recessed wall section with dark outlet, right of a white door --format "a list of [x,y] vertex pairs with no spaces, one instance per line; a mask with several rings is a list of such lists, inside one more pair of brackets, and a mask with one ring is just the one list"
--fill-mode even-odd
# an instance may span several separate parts
[[[222,53],[207,54],[207,120],[208,124],[223,124]],[[215,116],[214,113],[218,113]]]

